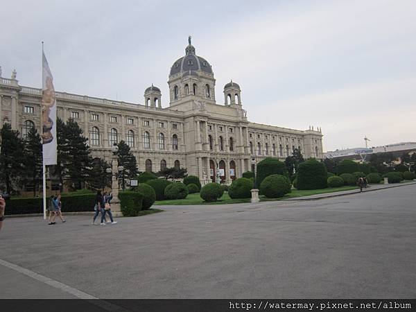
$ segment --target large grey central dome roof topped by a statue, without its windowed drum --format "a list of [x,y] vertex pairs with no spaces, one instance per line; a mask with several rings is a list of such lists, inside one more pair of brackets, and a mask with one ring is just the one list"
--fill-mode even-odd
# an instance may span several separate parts
[[185,52],[185,56],[179,58],[176,62],[173,63],[170,75],[198,70],[212,74],[212,69],[209,62],[207,62],[205,58],[201,58],[200,56],[196,55],[195,47],[191,44],[190,37],[189,45],[187,46],[187,49],[185,49]]

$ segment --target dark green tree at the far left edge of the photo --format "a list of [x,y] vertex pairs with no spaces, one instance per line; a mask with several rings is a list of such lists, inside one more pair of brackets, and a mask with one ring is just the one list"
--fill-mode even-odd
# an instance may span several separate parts
[[6,193],[11,193],[13,182],[18,182],[24,172],[23,140],[19,132],[12,130],[10,123],[1,128],[0,181],[6,185]]

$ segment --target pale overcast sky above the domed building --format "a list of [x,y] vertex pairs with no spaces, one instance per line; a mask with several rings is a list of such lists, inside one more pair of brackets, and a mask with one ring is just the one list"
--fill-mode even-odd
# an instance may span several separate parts
[[55,89],[168,105],[169,69],[192,35],[230,79],[250,121],[322,127],[324,150],[416,141],[416,1],[5,1],[0,66],[41,86],[41,42]]

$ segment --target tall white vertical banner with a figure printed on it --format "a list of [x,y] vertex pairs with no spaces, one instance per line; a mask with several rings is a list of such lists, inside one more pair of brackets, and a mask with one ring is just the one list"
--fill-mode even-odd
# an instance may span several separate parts
[[42,146],[45,166],[56,164],[56,96],[53,77],[42,51]]

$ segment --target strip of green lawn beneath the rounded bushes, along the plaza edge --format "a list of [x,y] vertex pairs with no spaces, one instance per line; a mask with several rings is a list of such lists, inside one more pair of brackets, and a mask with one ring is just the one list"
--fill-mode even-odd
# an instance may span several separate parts
[[[358,187],[333,187],[328,189],[312,189],[307,191],[300,191],[297,189],[292,189],[291,193],[286,194],[282,198],[265,198],[264,196],[260,196],[260,201],[269,201],[269,200],[282,200],[285,198],[293,198],[299,196],[309,196],[315,194],[322,194],[322,193],[332,193],[338,191],[349,191],[352,189],[358,189]],[[158,200],[153,205],[222,205],[222,204],[239,204],[241,202],[250,202],[251,198],[243,198],[243,199],[232,199],[229,198],[228,193],[224,193],[223,197],[216,202],[205,202],[200,198],[199,193],[189,194],[187,198],[183,200]]]

